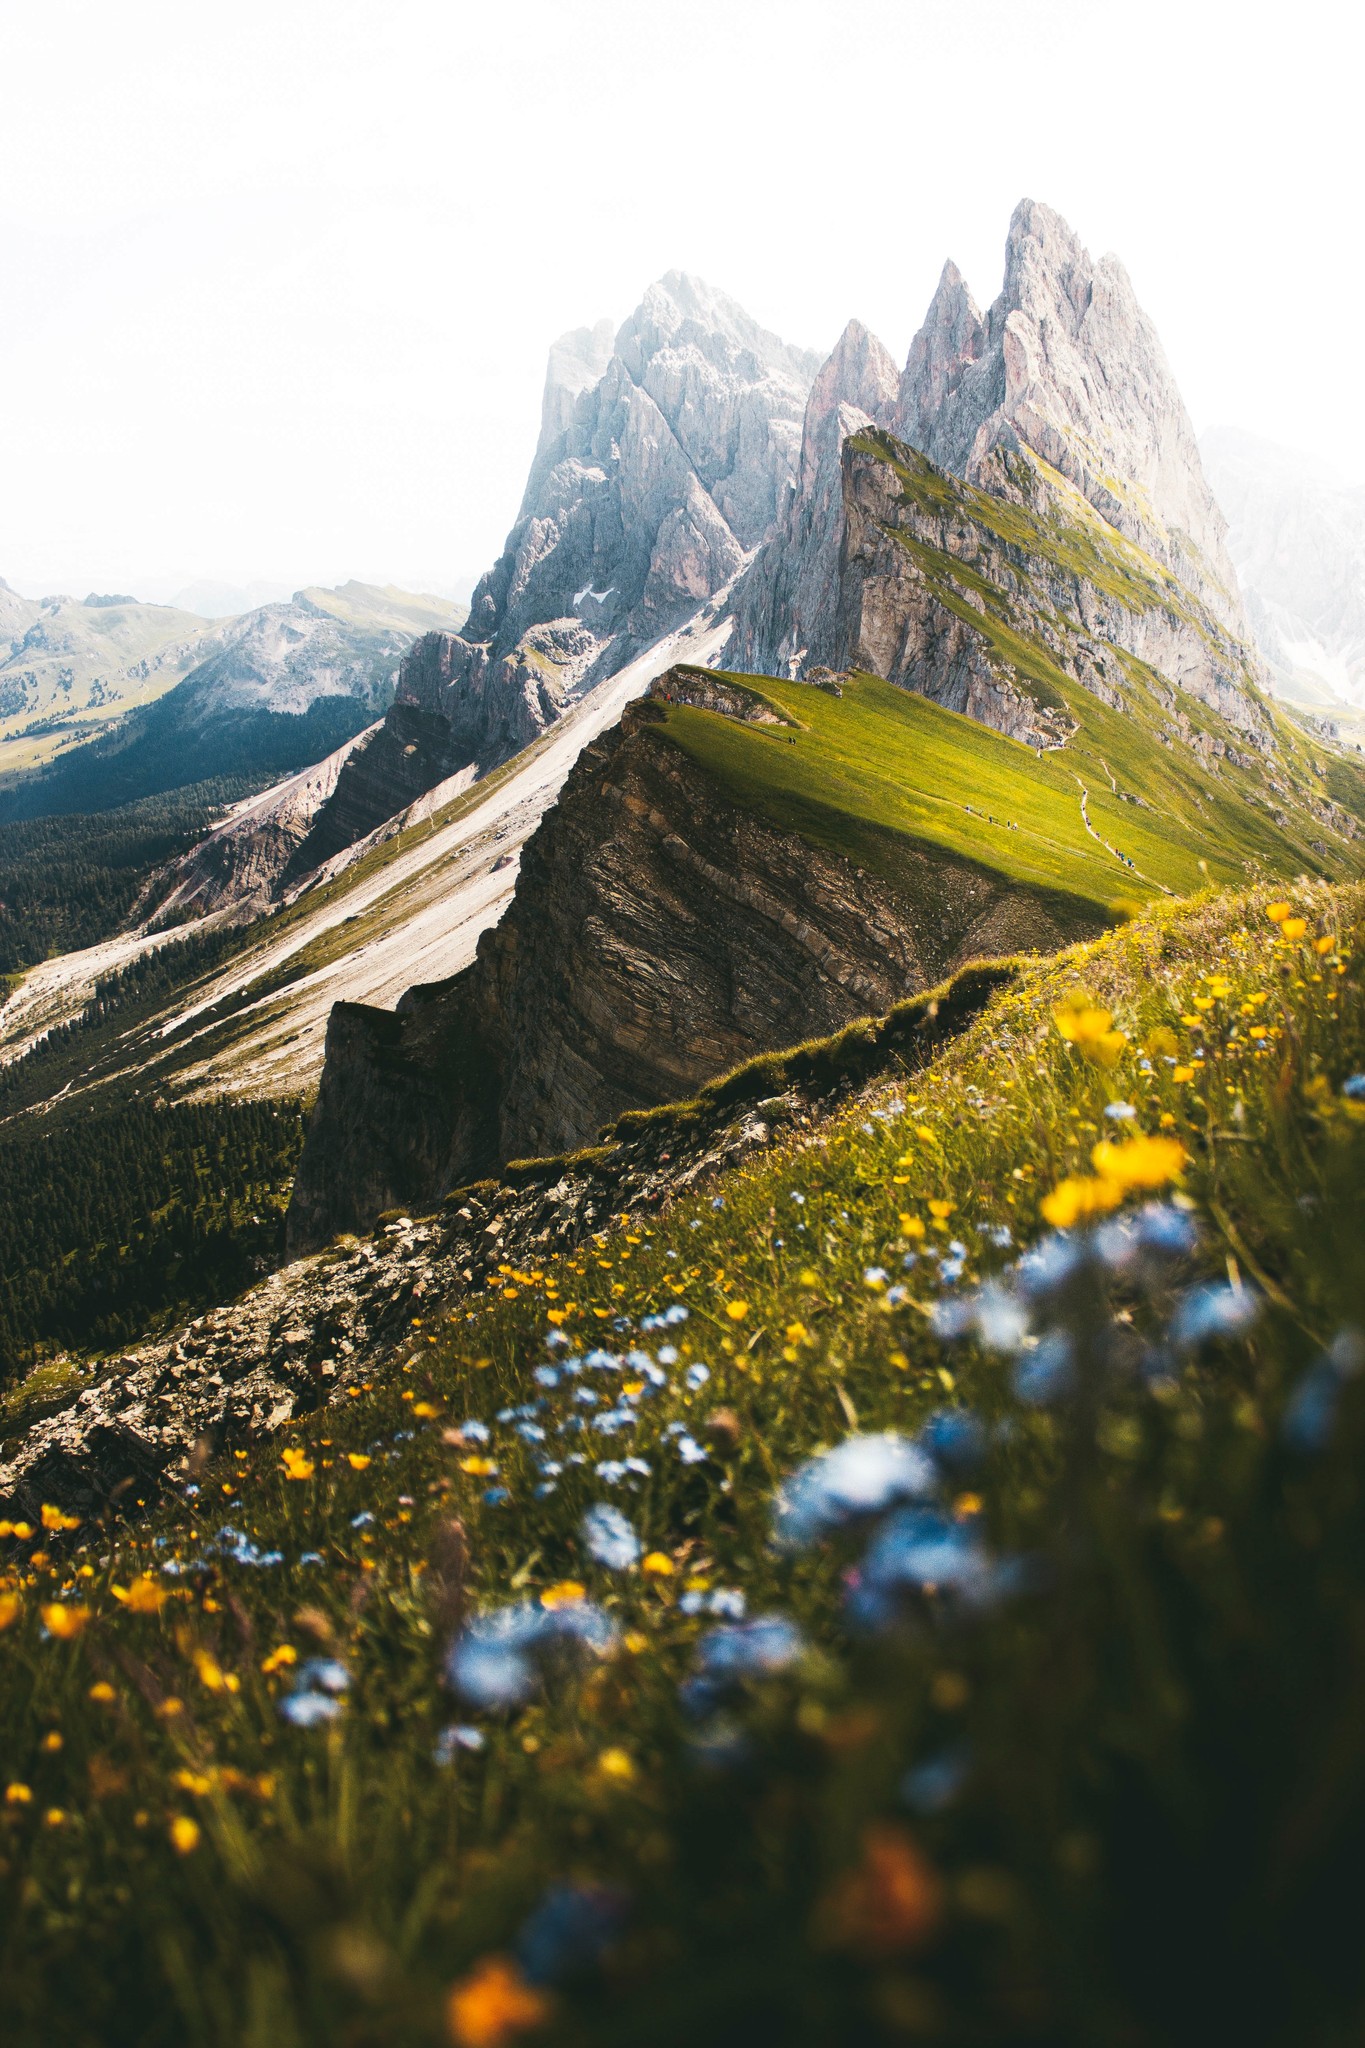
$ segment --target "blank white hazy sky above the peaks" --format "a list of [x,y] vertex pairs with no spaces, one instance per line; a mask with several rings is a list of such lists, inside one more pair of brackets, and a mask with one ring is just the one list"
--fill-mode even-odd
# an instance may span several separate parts
[[681,266],[902,356],[1025,193],[1126,260],[1199,428],[1363,477],[1359,18],[0,0],[0,575],[473,580],[563,328]]

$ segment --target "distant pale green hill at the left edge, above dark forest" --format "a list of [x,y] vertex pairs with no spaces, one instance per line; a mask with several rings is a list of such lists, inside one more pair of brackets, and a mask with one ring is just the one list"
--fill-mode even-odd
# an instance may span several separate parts
[[0,582],[0,778],[174,688],[205,633],[172,604],[98,592],[33,600]]

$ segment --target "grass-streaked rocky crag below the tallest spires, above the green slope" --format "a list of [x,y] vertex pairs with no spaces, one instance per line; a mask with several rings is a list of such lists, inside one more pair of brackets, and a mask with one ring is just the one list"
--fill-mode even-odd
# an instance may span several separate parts
[[997,451],[976,489],[853,426],[837,479],[823,530],[806,543],[794,520],[745,578],[735,668],[870,670],[1033,748],[1072,731],[1070,682],[1109,707],[1134,686],[1166,711],[1187,692],[1273,745],[1248,649],[1027,451]]

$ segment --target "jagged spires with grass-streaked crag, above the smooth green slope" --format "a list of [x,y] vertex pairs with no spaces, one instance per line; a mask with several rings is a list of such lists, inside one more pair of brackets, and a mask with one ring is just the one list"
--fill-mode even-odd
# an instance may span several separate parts
[[[1038,676],[1023,702],[1009,643],[1025,625],[1111,702],[1156,670],[1265,743],[1222,516],[1115,258],[1093,264],[1023,201],[984,317],[948,264],[898,385],[853,324],[817,389],[800,489],[737,598],[733,666],[870,668],[1046,745],[1060,733],[1038,713],[1056,702]],[[915,453],[888,467],[868,428]]]

